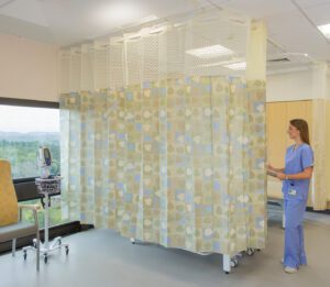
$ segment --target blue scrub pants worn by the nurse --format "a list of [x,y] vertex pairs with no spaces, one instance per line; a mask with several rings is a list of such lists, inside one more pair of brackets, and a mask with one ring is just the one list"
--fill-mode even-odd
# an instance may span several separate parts
[[284,200],[285,243],[284,266],[298,268],[307,264],[302,221],[307,200],[288,198]]

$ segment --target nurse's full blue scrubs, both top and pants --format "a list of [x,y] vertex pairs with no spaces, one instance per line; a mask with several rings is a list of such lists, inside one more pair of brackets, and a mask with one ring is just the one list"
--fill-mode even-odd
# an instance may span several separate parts
[[[308,144],[294,145],[286,150],[285,174],[304,172],[314,165],[314,153]],[[308,199],[309,179],[283,180],[285,211],[284,266],[298,268],[306,265],[302,221]]]

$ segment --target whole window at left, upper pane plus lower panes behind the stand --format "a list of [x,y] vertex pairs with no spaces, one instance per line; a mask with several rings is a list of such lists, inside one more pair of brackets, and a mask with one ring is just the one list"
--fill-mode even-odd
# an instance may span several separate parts
[[[0,98],[0,158],[11,163],[14,180],[24,183],[25,179],[34,180],[34,177],[40,176],[37,166],[40,146],[48,147],[52,153],[54,164],[51,173],[59,173],[58,103]],[[40,203],[40,199],[24,203]],[[22,216],[23,220],[33,221],[32,212],[24,210]],[[38,221],[43,227],[44,212],[38,213]],[[53,197],[50,225],[64,222],[66,221],[62,219],[59,197]]]

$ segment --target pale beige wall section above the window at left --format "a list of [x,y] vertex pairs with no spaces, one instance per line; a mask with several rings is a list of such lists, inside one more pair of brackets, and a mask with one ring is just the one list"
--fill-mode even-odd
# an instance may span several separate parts
[[58,101],[58,48],[0,33],[0,97]]

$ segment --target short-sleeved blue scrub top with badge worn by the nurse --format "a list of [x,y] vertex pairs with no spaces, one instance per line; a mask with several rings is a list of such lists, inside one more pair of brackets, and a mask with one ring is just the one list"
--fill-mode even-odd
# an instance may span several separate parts
[[[285,169],[286,175],[302,173],[305,168],[314,166],[314,152],[311,147],[302,143],[294,150],[295,145],[290,145],[286,150]],[[307,200],[310,179],[288,179],[283,180],[282,191],[284,199]]]

